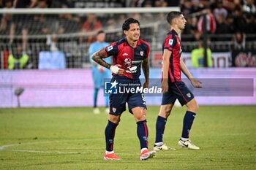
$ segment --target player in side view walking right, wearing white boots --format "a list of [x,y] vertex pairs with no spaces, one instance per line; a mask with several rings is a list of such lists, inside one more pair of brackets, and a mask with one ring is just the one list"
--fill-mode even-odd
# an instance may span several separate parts
[[[181,40],[178,34],[185,28],[186,19],[181,12],[169,12],[167,22],[170,24],[170,31],[167,33],[162,46],[162,104],[159,110],[156,123],[156,141],[154,150],[170,150],[162,141],[165,131],[167,117],[178,99],[181,105],[186,104],[187,112],[183,120],[181,139],[178,141],[180,147],[187,147],[192,150],[199,150],[199,147],[189,140],[189,132],[198,109],[194,95],[181,80],[181,71],[187,76],[195,88],[201,88],[200,81],[195,80],[190,74],[187,66],[181,58]],[[173,148],[174,149],[174,148]]]

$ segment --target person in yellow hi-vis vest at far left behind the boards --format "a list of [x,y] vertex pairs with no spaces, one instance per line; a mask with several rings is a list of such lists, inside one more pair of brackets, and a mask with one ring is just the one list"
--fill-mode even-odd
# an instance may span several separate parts
[[18,46],[15,53],[8,57],[8,69],[24,69],[29,61],[29,55],[23,53],[22,46]]

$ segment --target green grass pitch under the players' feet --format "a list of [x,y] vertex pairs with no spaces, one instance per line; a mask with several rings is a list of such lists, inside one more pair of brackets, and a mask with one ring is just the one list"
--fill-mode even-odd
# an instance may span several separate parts
[[[0,169],[256,169],[256,106],[200,107],[191,131],[200,150],[178,147],[186,108],[174,108],[165,143],[176,151],[140,161],[134,117],[116,130],[121,161],[104,161],[108,115],[91,108],[0,109]],[[102,108],[103,110],[103,108]],[[152,149],[159,107],[148,107]]]

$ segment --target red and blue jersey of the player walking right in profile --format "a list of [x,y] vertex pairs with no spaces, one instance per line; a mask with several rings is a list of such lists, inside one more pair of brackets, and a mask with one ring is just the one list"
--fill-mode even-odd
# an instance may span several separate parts
[[167,34],[162,45],[162,53],[164,50],[170,50],[170,65],[168,69],[168,80],[170,82],[181,82],[181,40],[175,30],[171,29]]

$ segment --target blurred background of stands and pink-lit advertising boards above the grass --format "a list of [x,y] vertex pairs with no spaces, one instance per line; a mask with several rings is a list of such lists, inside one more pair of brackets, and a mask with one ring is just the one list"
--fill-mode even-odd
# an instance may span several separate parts
[[[0,0],[0,107],[92,107],[89,47],[100,30],[106,33],[105,42],[121,39],[127,18],[140,21],[141,38],[151,45],[151,78],[160,78],[162,41],[170,28],[165,16],[171,10],[183,12],[187,19],[182,56],[195,77],[213,79],[216,85],[223,78],[252,80],[252,92],[246,96],[223,96],[215,89],[216,95],[199,96],[198,103],[255,105],[255,3]],[[233,85],[227,85],[227,93]],[[99,93],[99,106],[104,106]],[[149,105],[159,101],[156,96],[147,98]]]

